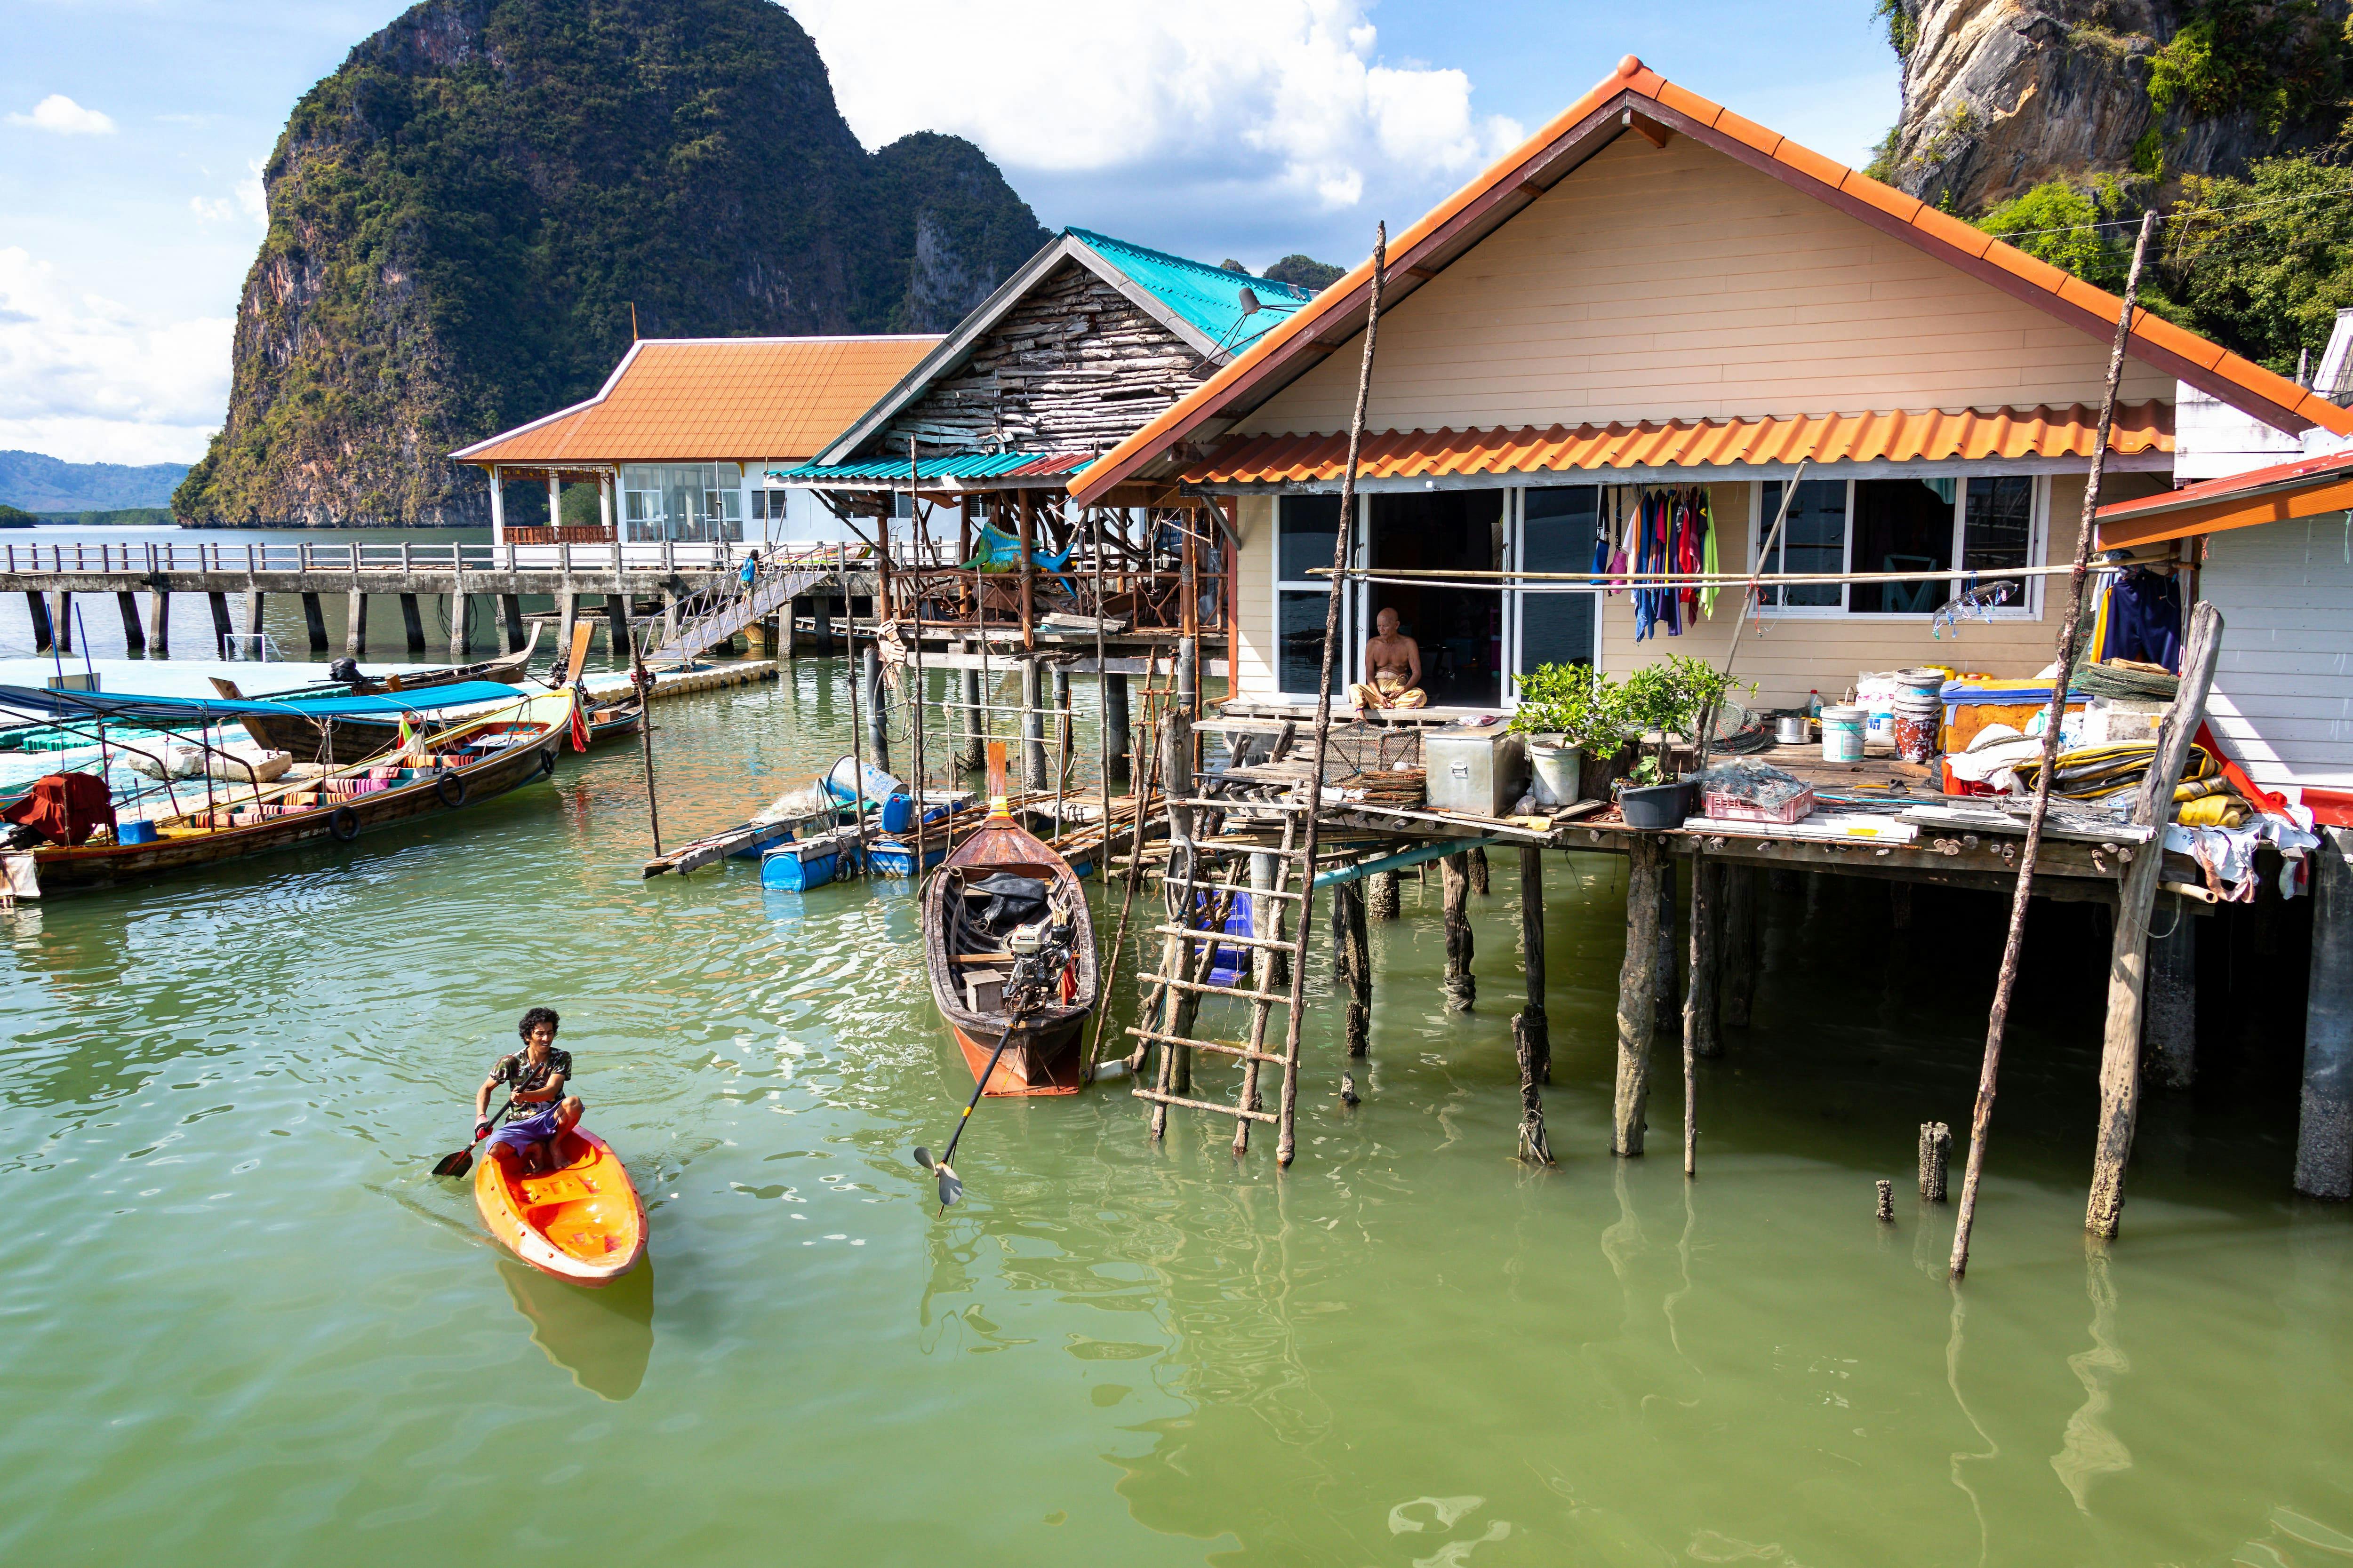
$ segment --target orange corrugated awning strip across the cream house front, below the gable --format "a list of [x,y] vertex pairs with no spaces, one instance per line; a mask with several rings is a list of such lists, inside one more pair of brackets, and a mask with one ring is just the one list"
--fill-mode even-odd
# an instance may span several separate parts
[[[1955,463],[2087,458],[2099,409],[1960,409],[1925,414],[1800,414],[1537,430],[1386,430],[1365,435],[1358,477],[1591,473],[1614,468],[1725,468],[1732,463]],[[2174,449],[2172,404],[2122,404],[2108,451]],[[1184,470],[1186,484],[1308,484],[1339,480],[1346,435],[1252,435]]]

